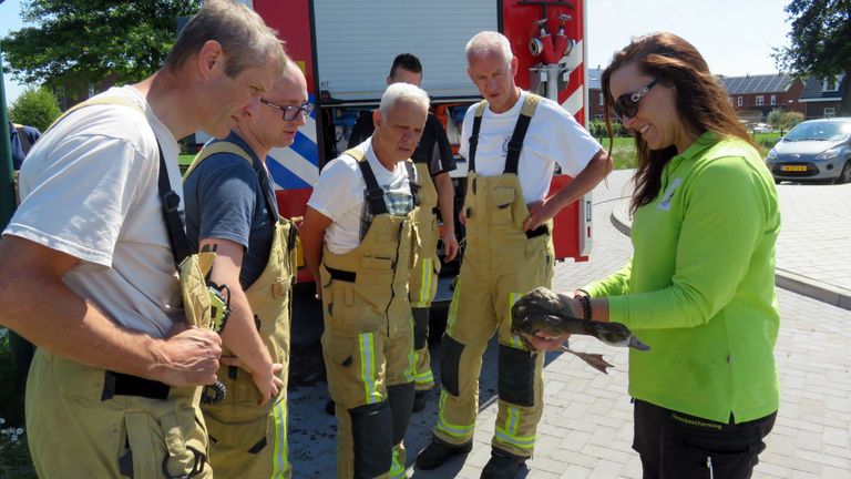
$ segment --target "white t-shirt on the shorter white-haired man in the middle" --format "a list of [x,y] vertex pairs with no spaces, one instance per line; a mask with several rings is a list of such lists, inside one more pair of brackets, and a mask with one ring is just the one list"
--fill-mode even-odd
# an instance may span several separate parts
[[[404,162],[397,163],[393,171],[387,170],[372,151],[372,136],[355,147],[365,153],[376,181],[385,190],[385,203],[390,214],[410,212],[413,198]],[[369,220],[366,188],[357,160],[346,154],[329,162],[319,174],[307,205],[334,221],[325,231],[325,243],[331,253],[344,254],[355,249],[366,235]]]

